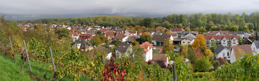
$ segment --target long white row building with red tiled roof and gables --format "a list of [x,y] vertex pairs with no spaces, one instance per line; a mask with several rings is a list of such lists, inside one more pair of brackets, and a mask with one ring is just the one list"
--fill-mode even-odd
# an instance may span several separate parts
[[232,48],[233,46],[238,45],[237,35],[204,35],[205,42],[207,48],[210,48],[210,42],[216,41],[216,45],[219,46],[220,44],[225,46],[226,48]]

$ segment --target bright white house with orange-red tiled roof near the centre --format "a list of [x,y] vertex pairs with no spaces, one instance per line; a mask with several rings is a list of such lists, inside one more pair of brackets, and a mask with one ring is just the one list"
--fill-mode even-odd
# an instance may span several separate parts
[[152,60],[153,58],[153,46],[149,42],[144,42],[143,44],[140,45],[140,47],[145,48],[142,50],[143,52],[143,57],[145,57],[145,61],[147,62],[148,60]]

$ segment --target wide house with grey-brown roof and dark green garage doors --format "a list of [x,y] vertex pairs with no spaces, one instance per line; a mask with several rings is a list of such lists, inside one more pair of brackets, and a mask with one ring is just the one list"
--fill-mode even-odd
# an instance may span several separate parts
[[153,35],[151,39],[151,44],[157,45],[157,46],[163,46],[163,43],[167,38],[170,38],[172,41],[174,40],[172,35]]

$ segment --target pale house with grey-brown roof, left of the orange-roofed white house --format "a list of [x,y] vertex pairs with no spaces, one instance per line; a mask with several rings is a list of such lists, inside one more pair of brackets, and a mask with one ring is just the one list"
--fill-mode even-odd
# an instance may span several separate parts
[[121,57],[123,54],[129,57],[129,55],[130,55],[129,53],[132,52],[132,50],[129,47],[132,47],[131,43],[121,42],[115,49],[116,57]]

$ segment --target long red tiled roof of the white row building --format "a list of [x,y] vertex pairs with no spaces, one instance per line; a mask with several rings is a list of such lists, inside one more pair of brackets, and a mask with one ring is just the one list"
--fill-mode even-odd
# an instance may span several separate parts
[[[198,36],[198,35],[197,35]],[[237,35],[204,35],[205,39],[211,39],[212,37],[214,39],[222,39],[226,37],[226,39],[233,39],[234,37],[237,38]]]

